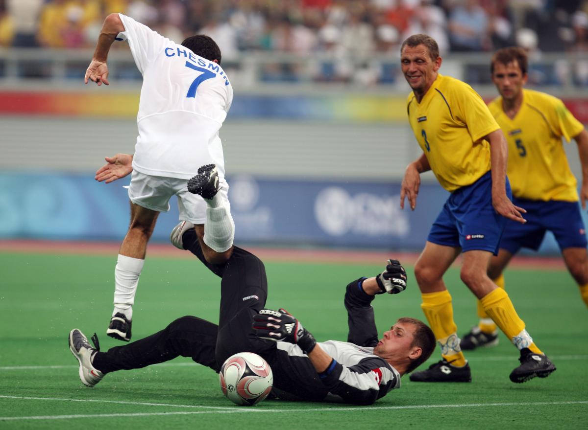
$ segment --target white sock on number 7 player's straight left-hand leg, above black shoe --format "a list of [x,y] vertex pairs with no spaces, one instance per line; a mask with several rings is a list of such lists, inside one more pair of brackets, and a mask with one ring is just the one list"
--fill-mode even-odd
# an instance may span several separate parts
[[112,316],[116,313],[122,313],[129,321],[132,320],[132,306],[135,303],[135,293],[143,264],[145,264],[145,260],[118,254],[114,270],[115,290]]

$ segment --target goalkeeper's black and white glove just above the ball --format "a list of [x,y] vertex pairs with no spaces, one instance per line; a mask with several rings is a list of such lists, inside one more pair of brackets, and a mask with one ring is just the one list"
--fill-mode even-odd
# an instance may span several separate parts
[[316,345],[316,340],[300,321],[285,310],[262,309],[253,317],[253,330],[257,337],[272,341],[289,342],[298,345],[308,354]]

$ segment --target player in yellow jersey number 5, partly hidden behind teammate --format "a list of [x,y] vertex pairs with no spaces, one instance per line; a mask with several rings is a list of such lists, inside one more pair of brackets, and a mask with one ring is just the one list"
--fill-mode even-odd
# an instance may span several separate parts
[[[588,132],[562,100],[523,89],[527,54],[504,48],[492,58],[492,80],[500,96],[490,105],[509,145],[508,176],[513,203],[527,210],[527,223],[507,221],[498,256],[490,260],[488,276],[504,288],[502,272],[520,248],[537,250],[552,231],[566,266],[588,305],[586,233],[580,214],[576,178],[570,172],[562,137],[576,140],[582,163],[582,207],[588,199]],[[496,345],[496,324],[478,303],[480,322],[461,341],[462,350]]]

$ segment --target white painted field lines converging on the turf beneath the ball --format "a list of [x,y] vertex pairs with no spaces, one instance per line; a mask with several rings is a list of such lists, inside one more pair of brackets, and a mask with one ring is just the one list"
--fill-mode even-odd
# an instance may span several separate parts
[[[0,396],[0,398],[15,398],[15,399],[43,399],[43,398],[27,398],[27,397],[11,397]],[[89,402],[91,400],[84,399],[55,399],[46,398],[45,400],[64,400],[64,401],[79,401]],[[112,402],[132,404],[132,402]],[[138,405],[145,405],[138,403]],[[158,406],[178,407],[180,405],[163,405],[154,404]],[[407,405],[407,406],[383,406],[383,407],[323,407],[323,408],[309,408],[309,409],[262,409],[255,408],[216,408],[208,411],[178,411],[178,412],[135,412],[128,414],[76,414],[76,415],[36,415],[36,416],[1,416],[0,421],[22,421],[26,419],[48,420],[48,419],[83,419],[83,418],[126,418],[133,416],[157,416],[157,415],[196,415],[196,414],[235,414],[235,413],[291,413],[291,412],[339,412],[339,411],[366,411],[366,410],[390,410],[390,409],[434,409],[434,408],[487,408],[487,407],[521,407],[521,406],[556,406],[556,405],[588,405],[588,401],[559,401],[559,402],[520,402],[520,403],[470,403],[470,404],[454,404],[454,405]],[[193,405],[181,405],[181,407],[196,407]],[[202,407],[209,408],[209,407]],[[210,409],[213,409],[210,407]],[[219,410],[220,409],[220,410]]]

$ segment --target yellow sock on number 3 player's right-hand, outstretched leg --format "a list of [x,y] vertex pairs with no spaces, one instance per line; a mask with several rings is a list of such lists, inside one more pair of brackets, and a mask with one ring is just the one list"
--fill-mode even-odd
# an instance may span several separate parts
[[505,290],[496,288],[496,290],[482,297],[480,301],[486,313],[519,350],[529,348],[536,354],[543,354],[524,329],[524,322],[517,315],[515,307]]

